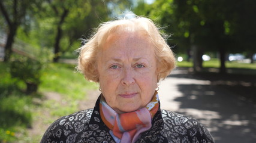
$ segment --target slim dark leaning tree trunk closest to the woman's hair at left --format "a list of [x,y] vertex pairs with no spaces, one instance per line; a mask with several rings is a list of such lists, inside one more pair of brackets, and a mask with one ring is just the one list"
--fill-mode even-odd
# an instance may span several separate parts
[[57,35],[55,38],[55,45],[54,45],[54,58],[53,58],[53,62],[57,63],[59,61],[59,57],[60,57],[60,47],[59,47],[59,43],[61,42],[61,36],[62,36],[62,29],[61,26],[64,23],[65,17],[67,17],[68,15],[68,10],[65,9],[61,15],[61,20],[58,23],[58,27],[57,27]]

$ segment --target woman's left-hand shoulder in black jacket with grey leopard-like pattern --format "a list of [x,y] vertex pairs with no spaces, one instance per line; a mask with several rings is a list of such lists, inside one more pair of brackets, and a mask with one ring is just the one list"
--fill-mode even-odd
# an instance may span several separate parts
[[[74,139],[88,125],[93,109],[82,110],[56,120],[44,133],[41,142],[67,142]],[[62,139],[65,138],[65,141]]]

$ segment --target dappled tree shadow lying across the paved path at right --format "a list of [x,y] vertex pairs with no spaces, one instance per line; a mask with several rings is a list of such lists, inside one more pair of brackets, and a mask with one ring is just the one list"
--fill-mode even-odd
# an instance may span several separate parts
[[183,97],[175,99],[181,103],[178,111],[197,116],[201,123],[209,126],[216,142],[255,142],[254,104],[210,85],[178,87],[183,92]]

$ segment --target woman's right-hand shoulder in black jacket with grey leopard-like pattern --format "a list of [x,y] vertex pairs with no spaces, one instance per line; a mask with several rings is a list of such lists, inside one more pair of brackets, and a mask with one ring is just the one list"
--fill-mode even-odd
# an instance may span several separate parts
[[214,142],[209,131],[194,117],[161,110],[164,136],[182,142]]

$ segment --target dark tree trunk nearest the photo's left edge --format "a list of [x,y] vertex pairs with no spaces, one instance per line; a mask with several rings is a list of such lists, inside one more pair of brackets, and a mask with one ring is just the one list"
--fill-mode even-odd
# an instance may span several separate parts
[[12,47],[14,43],[14,37],[16,35],[16,30],[17,30],[16,24],[13,24],[12,26],[10,26],[10,32],[8,33],[8,36],[7,36],[7,42],[5,43],[5,56],[4,56],[5,62],[8,62],[10,60]]

